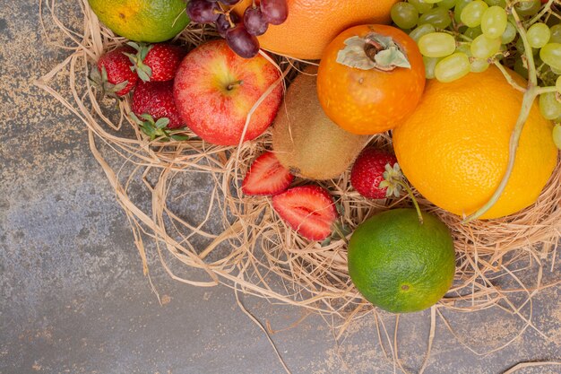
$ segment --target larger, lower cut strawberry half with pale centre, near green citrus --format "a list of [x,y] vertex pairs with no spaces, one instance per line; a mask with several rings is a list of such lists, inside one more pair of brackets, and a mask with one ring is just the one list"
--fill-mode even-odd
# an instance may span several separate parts
[[312,185],[290,188],[273,196],[272,207],[292,229],[310,240],[327,238],[339,215],[329,192]]

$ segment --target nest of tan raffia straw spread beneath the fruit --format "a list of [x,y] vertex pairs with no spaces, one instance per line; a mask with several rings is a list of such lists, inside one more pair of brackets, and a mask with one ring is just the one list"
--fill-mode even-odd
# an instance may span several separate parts
[[[100,100],[98,92],[90,86],[88,71],[96,59],[109,48],[122,45],[125,39],[116,37],[99,24],[87,0],[82,0],[79,5],[83,13],[82,33],[71,30],[59,20],[56,0],[39,2],[45,38],[71,55],[39,78],[36,84],[61,102],[88,129],[91,152],[105,171],[116,200],[131,223],[144,273],[149,274],[146,243],[155,244],[161,265],[173,279],[201,287],[222,283],[272,303],[306,308],[333,321],[339,331],[336,339],[341,338],[351,321],[374,312],[378,336],[386,354],[377,311],[350,281],[345,240],[333,239],[322,245],[302,239],[274,213],[270,198],[244,196],[241,192],[240,181],[251,162],[272,148],[271,133],[266,132],[255,141],[237,147],[205,144],[189,130],[186,135],[190,135],[191,140],[187,142],[150,142],[127,115],[130,100],[119,100],[116,106],[116,102]],[[48,39],[45,18],[60,30],[71,47],[58,46]],[[177,42],[186,48],[194,48],[216,37],[216,32],[208,26],[191,25],[177,37]],[[289,84],[302,70],[303,63],[295,59],[267,58],[282,74],[283,79],[278,83]],[[264,97],[255,103],[252,113]],[[108,109],[109,105],[117,110]],[[248,117],[246,126],[249,120]],[[375,135],[370,144],[390,149],[391,136]],[[174,195],[177,192],[173,187],[194,173],[204,174],[211,179],[212,185],[211,200],[203,220],[192,223],[174,210],[174,202],[183,196]],[[151,196],[150,211],[144,211],[145,202],[135,199],[136,194],[131,193],[133,188],[139,188],[139,180],[142,182],[140,187]],[[308,183],[311,182],[296,181],[296,185]],[[367,200],[359,196],[350,187],[348,171],[340,178],[314,183],[330,190],[343,210],[341,222],[350,230],[376,212],[410,205],[406,196],[394,200]],[[502,219],[468,225],[462,224],[462,217],[446,213],[418,196],[422,209],[436,214],[451,229],[458,261],[453,288],[431,311],[433,322],[427,355],[434,339],[436,314],[453,331],[445,321],[443,310],[504,309],[523,321],[519,335],[530,327],[546,336],[531,323],[531,310],[532,299],[539,291],[559,283],[558,280],[544,283],[547,278],[544,273],[554,271],[561,232],[559,186],[561,164],[557,165],[548,185],[531,207]],[[217,213],[223,230],[204,230],[205,224]],[[211,243],[205,248],[197,248],[196,243],[200,240],[211,240]],[[224,250],[225,247],[229,249]],[[190,279],[183,272],[177,274],[177,269],[182,266],[200,270],[203,275]],[[532,284],[526,284],[529,282]],[[522,313],[522,309],[528,307],[530,312]],[[384,326],[383,331],[389,339]],[[500,348],[510,344],[516,336]],[[456,337],[462,342],[460,336]],[[469,346],[468,349],[485,354]],[[401,367],[397,347],[394,349],[390,344],[390,351],[396,366]],[[428,356],[421,372],[425,370],[427,360]]]

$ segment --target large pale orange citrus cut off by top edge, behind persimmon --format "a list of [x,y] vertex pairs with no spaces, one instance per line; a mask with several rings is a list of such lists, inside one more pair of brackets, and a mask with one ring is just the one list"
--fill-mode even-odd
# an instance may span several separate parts
[[[263,49],[301,58],[320,59],[324,48],[342,30],[365,23],[389,23],[392,5],[399,0],[288,0],[289,18],[270,25],[259,37]],[[252,0],[235,5],[240,15]]]

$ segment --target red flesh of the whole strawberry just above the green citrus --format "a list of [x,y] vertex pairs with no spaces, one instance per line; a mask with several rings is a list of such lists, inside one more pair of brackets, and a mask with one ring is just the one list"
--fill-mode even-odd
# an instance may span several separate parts
[[384,180],[385,165],[397,162],[391,153],[367,148],[360,152],[350,170],[350,184],[358,194],[371,199],[383,199],[387,188],[379,188]]

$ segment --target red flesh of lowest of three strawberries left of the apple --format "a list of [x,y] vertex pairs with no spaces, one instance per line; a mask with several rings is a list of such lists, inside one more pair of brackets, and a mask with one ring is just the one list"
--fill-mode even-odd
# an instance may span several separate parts
[[139,82],[134,89],[131,107],[137,117],[149,114],[154,120],[168,118],[169,129],[185,126],[173,100],[173,81]]

